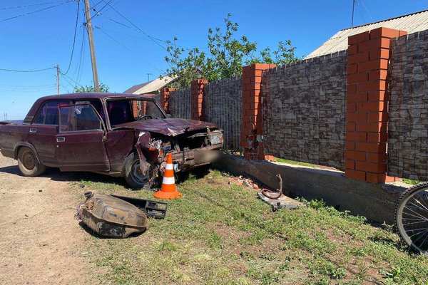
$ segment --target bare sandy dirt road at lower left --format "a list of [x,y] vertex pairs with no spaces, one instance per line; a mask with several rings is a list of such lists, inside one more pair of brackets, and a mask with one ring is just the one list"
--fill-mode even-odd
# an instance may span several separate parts
[[0,155],[0,284],[98,284],[85,257],[92,237],[73,217],[80,199],[67,174],[22,177]]

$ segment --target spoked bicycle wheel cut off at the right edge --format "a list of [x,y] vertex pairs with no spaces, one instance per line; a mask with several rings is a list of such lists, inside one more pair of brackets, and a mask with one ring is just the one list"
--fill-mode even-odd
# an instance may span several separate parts
[[395,208],[395,220],[404,242],[428,255],[428,182],[402,193]]

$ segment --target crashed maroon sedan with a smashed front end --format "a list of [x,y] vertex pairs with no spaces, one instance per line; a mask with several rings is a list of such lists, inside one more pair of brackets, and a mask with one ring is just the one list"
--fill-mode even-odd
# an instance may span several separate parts
[[40,98],[24,121],[0,122],[0,150],[18,160],[24,176],[46,167],[125,177],[150,187],[165,167],[207,165],[223,146],[213,123],[168,118],[153,95],[74,93]]

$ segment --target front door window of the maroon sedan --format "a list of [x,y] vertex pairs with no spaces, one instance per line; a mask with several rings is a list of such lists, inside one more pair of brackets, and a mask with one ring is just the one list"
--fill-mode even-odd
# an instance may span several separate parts
[[59,131],[103,130],[101,120],[91,105],[68,105],[59,108]]

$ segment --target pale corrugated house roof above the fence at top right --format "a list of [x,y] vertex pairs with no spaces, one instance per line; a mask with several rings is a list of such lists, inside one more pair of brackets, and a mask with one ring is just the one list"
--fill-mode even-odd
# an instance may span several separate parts
[[323,56],[337,51],[347,49],[347,38],[357,33],[370,31],[374,28],[394,28],[397,30],[407,31],[407,33],[416,33],[428,29],[428,10],[416,12],[413,14],[398,16],[395,18],[387,19],[384,21],[377,21],[362,26],[355,26],[352,28],[345,28],[338,31],[328,41],[323,43],[319,48],[308,54],[306,58],[314,58],[316,56]]

